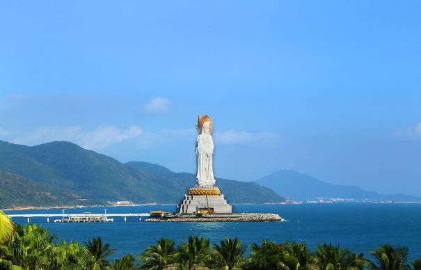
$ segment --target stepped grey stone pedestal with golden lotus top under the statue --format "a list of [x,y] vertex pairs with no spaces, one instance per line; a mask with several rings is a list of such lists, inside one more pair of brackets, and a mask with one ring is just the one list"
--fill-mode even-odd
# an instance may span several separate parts
[[180,214],[232,213],[232,206],[218,187],[194,186],[184,195],[177,210]]

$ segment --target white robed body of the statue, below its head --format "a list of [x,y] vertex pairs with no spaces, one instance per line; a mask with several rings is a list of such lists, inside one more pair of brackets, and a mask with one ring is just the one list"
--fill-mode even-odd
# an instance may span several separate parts
[[198,156],[198,186],[214,186],[214,170],[212,167],[212,154],[214,154],[214,141],[211,134],[202,133],[198,136],[196,154]]

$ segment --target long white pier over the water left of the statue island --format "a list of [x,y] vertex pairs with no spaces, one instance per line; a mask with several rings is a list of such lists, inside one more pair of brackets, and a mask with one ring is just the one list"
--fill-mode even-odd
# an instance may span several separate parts
[[120,214],[92,214],[92,213],[75,213],[75,214],[9,214],[10,218],[26,218],[28,223],[31,222],[31,218],[44,217],[47,222],[50,218],[60,217],[61,219],[54,220],[55,222],[106,222],[113,221],[112,217],[122,217],[126,222],[127,218],[134,216],[138,218],[138,221],[142,221],[142,218],[150,216],[149,213],[120,213]]

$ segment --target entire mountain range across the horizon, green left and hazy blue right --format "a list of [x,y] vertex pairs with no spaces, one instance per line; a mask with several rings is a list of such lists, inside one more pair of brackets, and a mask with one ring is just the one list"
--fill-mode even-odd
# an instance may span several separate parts
[[[117,201],[177,203],[195,182],[192,173],[175,173],[143,161],[122,164],[65,141],[31,147],[0,141],[0,209]],[[421,202],[415,196],[330,184],[294,170],[278,170],[255,182],[218,178],[217,184],[232,203],[277,203],[285,198]]]

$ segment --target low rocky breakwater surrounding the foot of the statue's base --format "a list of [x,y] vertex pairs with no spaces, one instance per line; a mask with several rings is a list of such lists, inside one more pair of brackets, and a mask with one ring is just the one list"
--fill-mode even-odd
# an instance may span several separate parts
[[236,214],[211,214],[209,216],[164,216],[162,218],[148,218],[150,222],[263,222],[283,221],[278,214],[271,213],[236,213]]

